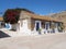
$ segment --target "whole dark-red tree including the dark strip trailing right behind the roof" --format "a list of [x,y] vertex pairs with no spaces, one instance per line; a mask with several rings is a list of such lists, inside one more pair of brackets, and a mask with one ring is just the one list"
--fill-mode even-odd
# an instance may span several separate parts
[[6,23],[10,23],[10,24],[15,24],[18,23],[19,19],[20,19],[20,12],[21,11],[26,11],[29,13],[33,13],[32,11],[29,11],[28,9],[8,9],[4,14],[3,14],[3,21]]

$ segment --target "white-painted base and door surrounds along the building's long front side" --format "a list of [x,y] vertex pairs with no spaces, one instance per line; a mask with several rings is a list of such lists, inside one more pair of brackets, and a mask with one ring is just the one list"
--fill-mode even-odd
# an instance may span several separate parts
[[47,34],[47,33],[59,33],[58,32],[58,25],[57,23],[55,23],[55,28],[50,28],[50,22],[44,22],[45,23],[45,28],[42,28],[42,21],[35,21],[35,27],[34,27],[34,30],[32,30],[32,33],[37,33],[38,34],[38,30],[36,30],[36,23],[40,24],[40,28],[41,28],[41,34]]

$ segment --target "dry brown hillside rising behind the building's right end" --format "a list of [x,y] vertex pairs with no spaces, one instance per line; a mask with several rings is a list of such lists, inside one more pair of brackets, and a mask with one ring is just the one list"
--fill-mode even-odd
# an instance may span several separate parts
[[64,30],[66,30],[66,12],[57,13],[52,15],[53,19],[57,19],[64,24]]

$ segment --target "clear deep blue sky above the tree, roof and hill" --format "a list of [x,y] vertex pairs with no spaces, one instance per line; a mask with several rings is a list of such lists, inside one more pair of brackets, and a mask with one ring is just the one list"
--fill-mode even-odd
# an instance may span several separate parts
[[7,9],[25,8],[40,15],[66,10],[66,0],[0,0],[0,16]]

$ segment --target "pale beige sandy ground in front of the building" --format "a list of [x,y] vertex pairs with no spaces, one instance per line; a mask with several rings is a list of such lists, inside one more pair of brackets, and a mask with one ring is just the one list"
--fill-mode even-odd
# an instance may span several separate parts
[[1,38],[0,49],[66,49],[66,33]]

